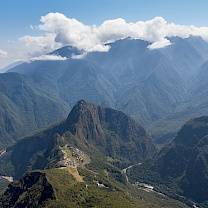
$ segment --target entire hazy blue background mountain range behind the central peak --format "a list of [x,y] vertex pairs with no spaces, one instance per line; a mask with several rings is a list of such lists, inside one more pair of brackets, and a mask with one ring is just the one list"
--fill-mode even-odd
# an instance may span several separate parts
[[[83,59],[79,58],[82,51],[67,46],[49,53],[65,57],[64,61],[36,60],[0,74],[2,85],[11,92],[15,93],[13,88],[18,84],[24,86],[24,82],[14,78],[11,85],[4,77],[18,76],[27,80],[30,90],[38,91],[45,100],[37,102],[33,95],[26,98],[20,93],[20,100],[26,99],[30,106],[37,106],[21,108],[18,99],[12,100],[1,89],[4,96],[1,105],[10,103],[6,113],[9,117],[2,116],[0,127],[4,132],[2,148],[64,118],[80,99],[127,113],[144,125],[159,144],[173,139],[188,119],[207,113],[208,44],[200,37],[173,37],[170,41],[168,47],[150,50],[147,48],[150,43],[127,38],[109,43],[108,52],[91,52]],[[44,104],[46,100],[54,103],[53,106]],[[12,108],[22,114],[18,122],[12,117],[15,115]],[[38,114],[38,108],[47,109],[50,116]],[[33,118],[27,118],[31,114]],[[14,126],[12,130],[7,129],[8,122]],[[17,123],[27,125],[28,130],[19,128]]]

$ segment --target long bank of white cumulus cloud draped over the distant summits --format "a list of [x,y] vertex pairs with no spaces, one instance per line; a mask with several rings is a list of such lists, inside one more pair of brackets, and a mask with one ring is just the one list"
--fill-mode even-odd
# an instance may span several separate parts
[[148,48],[151,50],[170,45],[167,37],[201,36],[208,41],[208,27],[176,25],[167,23],[162,17],[136,23],[127,23],[118,18],[106,20],[99,26],[89,26],[60,13],[49,13],[42,16],[40,21],[37,28],[44,32],[43,36],[24,36],[19,39],[30,49],[30,54],[36,56],[65,45],[77,47],[84,52],[106,52],[109,50],[106,43],[126,37],[150,42]]

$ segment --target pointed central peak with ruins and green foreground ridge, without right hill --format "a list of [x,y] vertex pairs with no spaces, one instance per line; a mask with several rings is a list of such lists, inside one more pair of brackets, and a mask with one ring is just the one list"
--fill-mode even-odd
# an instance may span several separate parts
[[129,116],[81,100],[67,119],[0,157],[0,174],[20,179],[8,186],[0,206],[186,207],[128,183],[122,169],[156,153],[152,138]]

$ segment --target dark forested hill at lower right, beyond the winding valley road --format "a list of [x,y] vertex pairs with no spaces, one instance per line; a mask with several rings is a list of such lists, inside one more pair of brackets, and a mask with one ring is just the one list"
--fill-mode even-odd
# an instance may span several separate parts
[[153,184],[180,200],[185,196],[207,206],[208,117],[189,120],[154,160],[129,170],[133,181]]

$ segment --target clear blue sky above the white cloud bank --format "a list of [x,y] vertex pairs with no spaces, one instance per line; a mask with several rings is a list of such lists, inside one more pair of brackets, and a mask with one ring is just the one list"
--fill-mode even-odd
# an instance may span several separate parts
[[[127,23],[147,21],[156,16],[168,23],[208,26],[207,0],[1,0],[0,50],[17,50],[23,43],[19,38],[44,35],[45,31],[33,29],[41,24],[41,16],[59,12],[75,18],[84,25],[101,25],[105,20],[123,18]],[[5,53],[6,54],[6,53]],[[12,62],[14,55],[0,57],[0,68]]]

